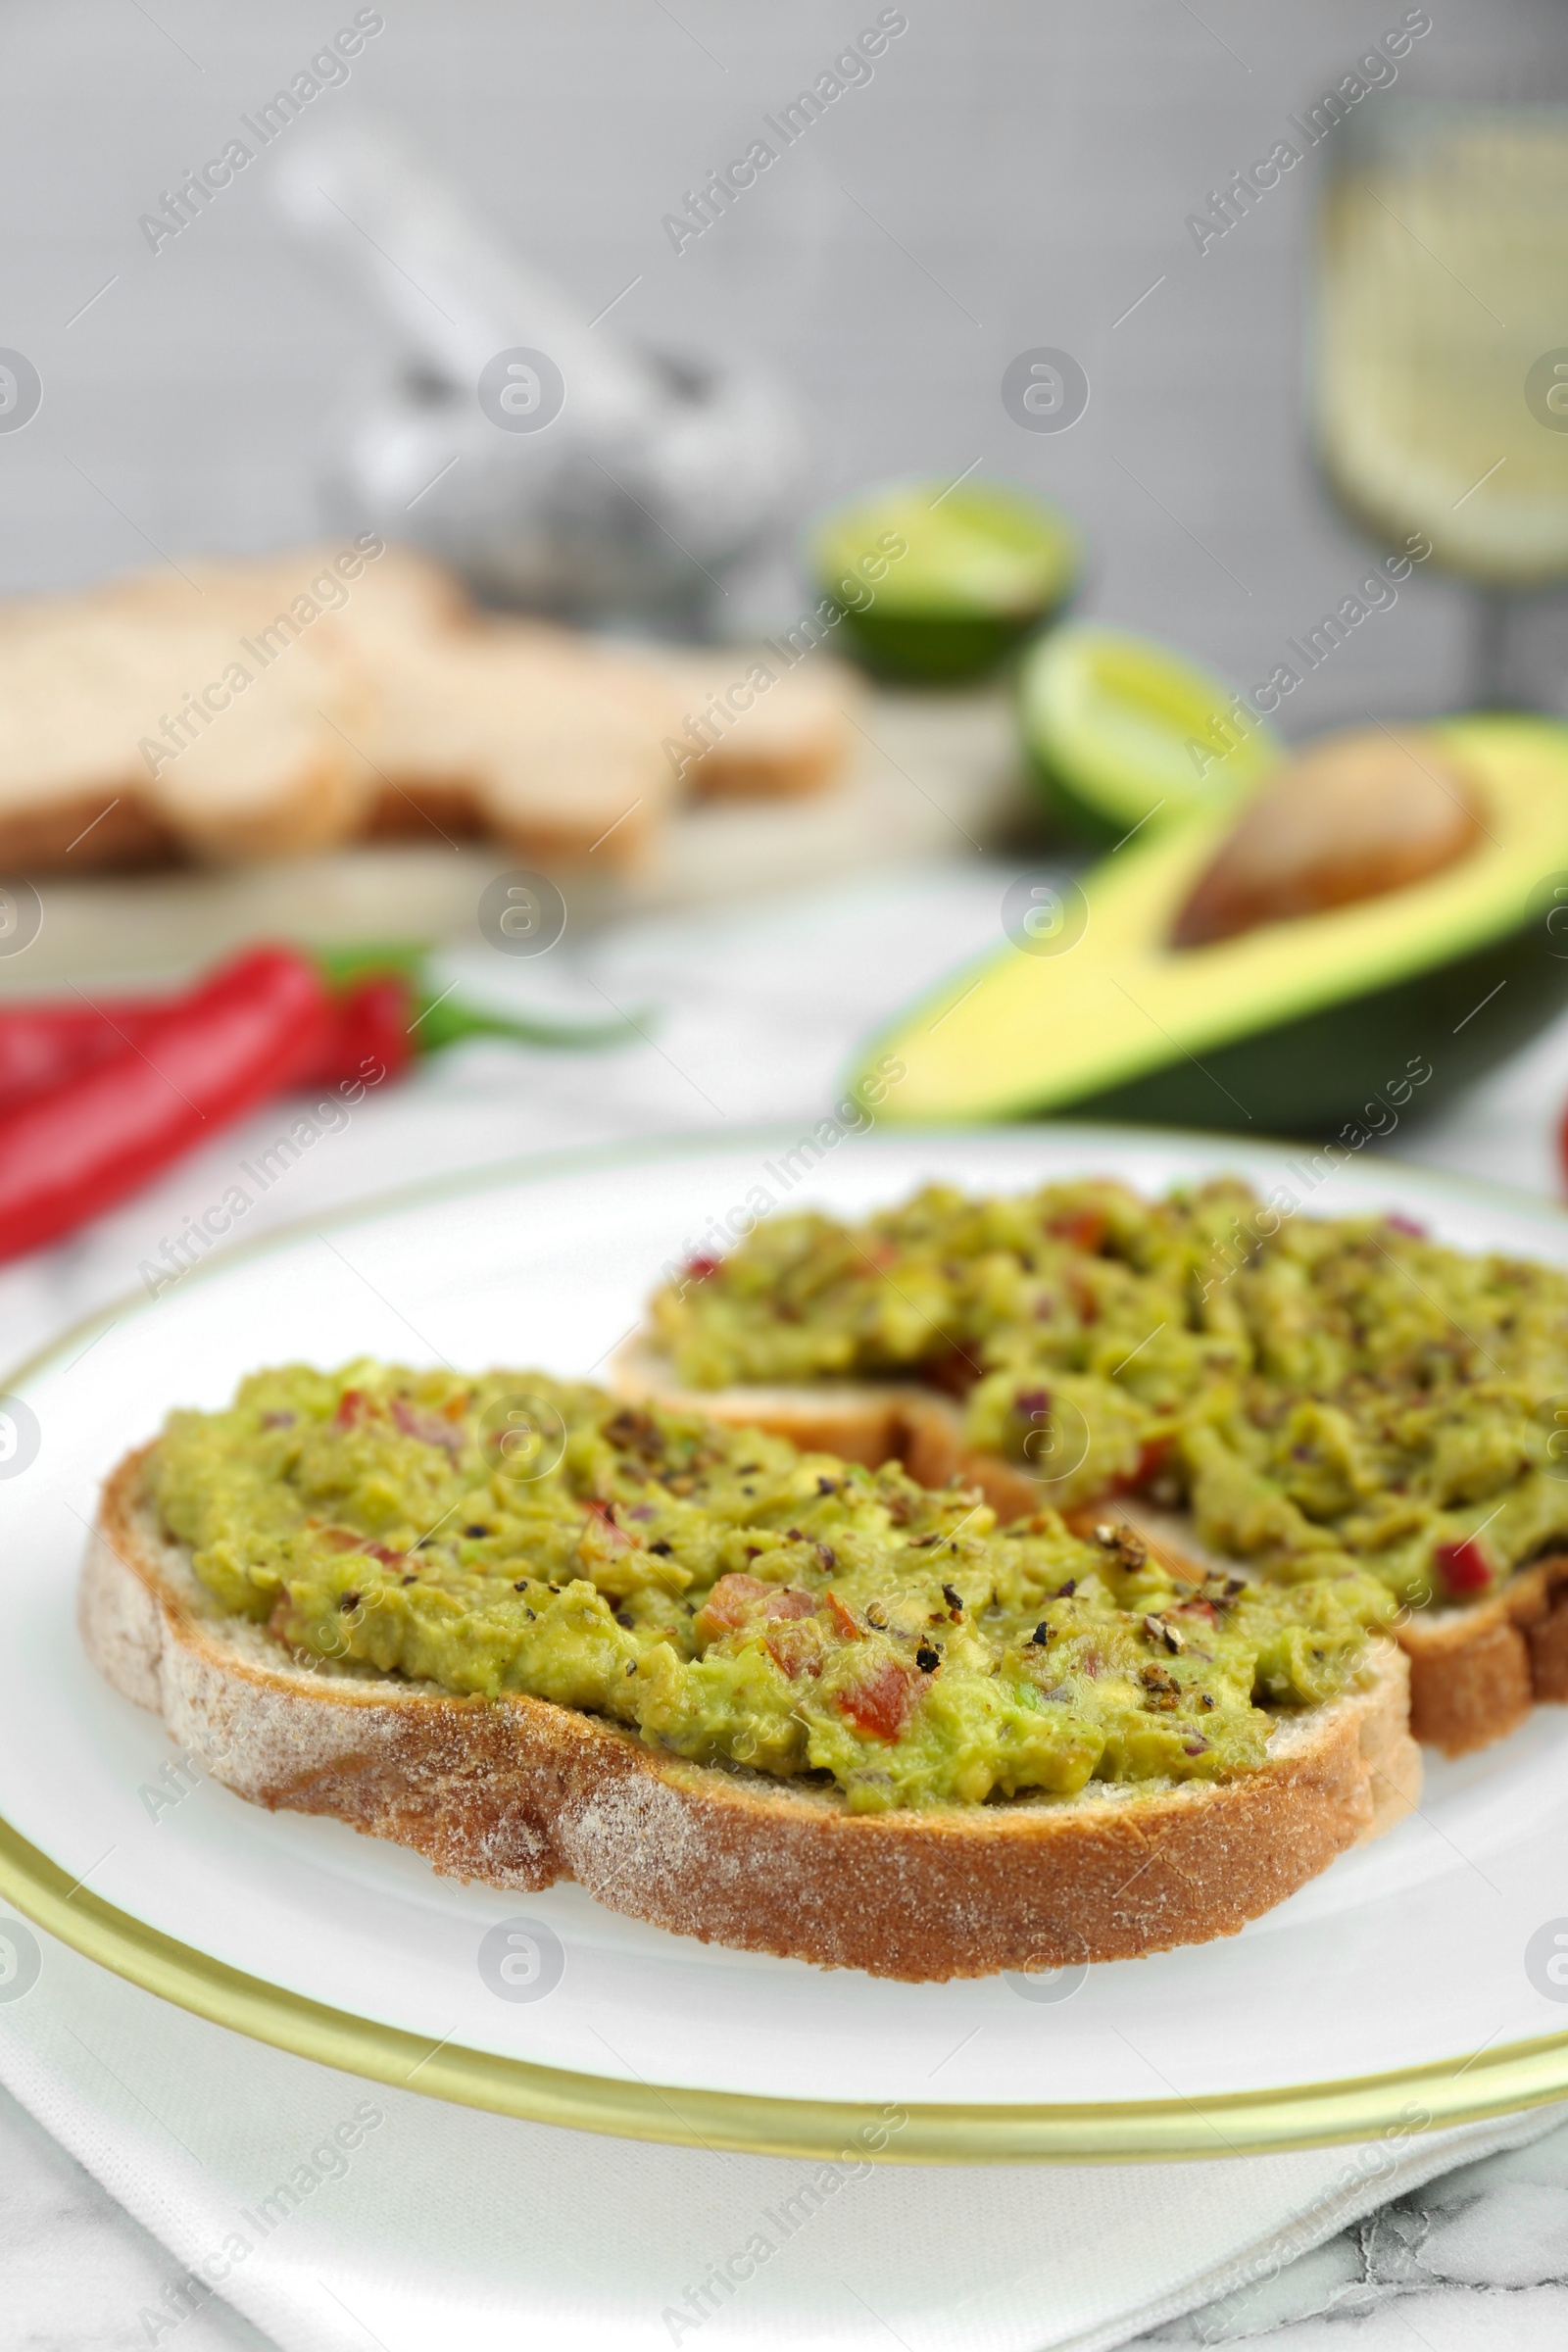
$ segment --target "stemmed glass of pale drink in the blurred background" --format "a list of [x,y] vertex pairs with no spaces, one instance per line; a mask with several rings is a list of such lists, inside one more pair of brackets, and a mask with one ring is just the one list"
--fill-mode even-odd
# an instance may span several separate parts
[[1378,103],[1319,209],[1314,440],[1363,532],[1474,586],[1495,706],[1514,609],[1568,581],[1568,108]]

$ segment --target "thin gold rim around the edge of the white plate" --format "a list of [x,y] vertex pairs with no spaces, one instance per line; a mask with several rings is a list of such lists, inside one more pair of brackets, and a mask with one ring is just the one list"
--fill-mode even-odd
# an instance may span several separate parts
[[[936,1129],[926,1136],[943,1150],[994,1138],[994,1129]],[[1058,1136],[1072,1134],[1067,1124]],[[1211,1136],[1182,1129],[1077,1129],[1086,1145],[1147,1141],[1166,1148],[1213,1148]],[[922,1129],[900,1129],[896,1141],[917,1143]],[[216,1261],[193,1268],[183,1282],[221,1277],[230,1265],[270,1256],[322,1228],[374,1223],[428,1202],[463,1192],[491,1192],[517,1183],[548,1183],[555,1176],[637,1167],[649,1160],[703,1157],[715,1150],[769,1152],[790,1141],[788,1129],[750,1129],[745,1134],[670,1136],[632,1145],[548,1152],[529,1160],[498,1162],[458,1176],[433,1178],[381,1192],[374,1200],[329,1216],[277,1225],[254,1242],[223,1251]],[[1298,1150],[1305,1145],[1295,1145]],[[1255,1145],[1251,1148],[1255,1150]],[[1272,1143],[1281,1157],[1291,1143]],[[1516,1214],[1561,1216],[1554,1202],[1537,1200],[1509,1185],[1446,1176],[1408,1162],[1380,1162],[1394,1183],[1420,1192],[1448,1192],[1481,1204],[1509,1207]],[[56,1357],[80,1348],[108,1324],[148,1312],[155,1301],[127,1296],[59,1334],[47,1348],[5,1374],[5,1390],[54,1367]],[[430,2098],[515,2114],[531,2124],[557,2124],[571,2131],[602,2131],[625,2140],[658,2140],[679,2147],[726,2147],[764,2157],[835,2159],[853,2152],[865,2122],[865,2100],[766,2098],[755,2091],[701,2091],[679,2084],[623,2082],[611,2074],[578,2074],[567,2067],[536,2065],[527,2058],[501,2058],[425,2034],[364,2018],[348,2009],[310,2002],[299,1992],[247,1976],[226,1962],[197,1952],[174,1936],[148,1926],[132,1912],[94,1896],[71,1879],[0,1813],[0,1898],[12,1903],[35,1926],[59,1936],[85,1959],[141,1985],[179,2009],[190,2009],[214,2025],[249,2034],[294,2058],[313,2058],[348,2074],[364,2074],[390,2089],[421,2091]],[[910,2105],[907,2124],[896,2140],[872,2157],[886,2164],[1126,2164],[1150,2159],[1251,2157],[1284,2147],[1328,2147],[1378,2133],[1410,2133],[1453,2124],[1481,2122],[1523,2107],[1542,2107],[1568,2096],[1568,2032],[1512,2042],[1505,2049],[1481,2049],[1392,2074],[1361,2074],[1335,2082],[1284,2084],[1269,2091],[1227,2091],[1211,2098],[1107,2100],[1081,2105]],[[851,2140],[856,2140],[851,2150]]]

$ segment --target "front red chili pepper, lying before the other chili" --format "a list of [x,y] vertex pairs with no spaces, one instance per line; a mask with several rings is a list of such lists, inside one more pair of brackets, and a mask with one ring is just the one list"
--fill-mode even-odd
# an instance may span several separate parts
[[148,1014],[134,1042],[85,1075],[0,1115],[0,1258],[73,1232],[282,1094],[329,1021],[315,964],[256,948]]

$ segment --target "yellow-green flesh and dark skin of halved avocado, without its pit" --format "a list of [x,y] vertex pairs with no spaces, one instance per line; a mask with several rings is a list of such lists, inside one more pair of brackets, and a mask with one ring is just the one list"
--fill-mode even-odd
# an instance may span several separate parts
[[1389,1101],[1429,1110],[1568,1002],[1568,729],[1476,715],[1432,734],[1474,779],[1486,826],[1462,863],[1171,948],[1232,816],[1150,828],[1060,884],[1044,953],[1004,936],[889,1023],[851,1091],[914,1124],[1074,1110],[1319,1136],[1380,1129]]

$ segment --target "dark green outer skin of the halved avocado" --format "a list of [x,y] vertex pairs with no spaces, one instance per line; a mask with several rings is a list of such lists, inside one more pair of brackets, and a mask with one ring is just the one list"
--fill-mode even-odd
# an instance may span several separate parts
[[1408,1061],[1429,1061],[1432,1077],[1406,1105],[1392,1105],[1401,1120],[1425,1117],[1483,1077],[1563,1004],[1568,957],[1542,946],[1542,924],[1533,920],[1458,962],[1213,1047],[1201,1065],[1182,1058],[1121,1087],[1053,1103],[1048,1115],[1338,1138],[1347,1124],[1359,1127],[1363,1112],[1380,1112],[1378,1098],[1403,1077]]

